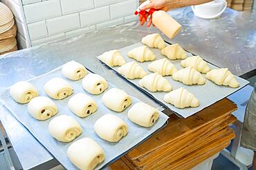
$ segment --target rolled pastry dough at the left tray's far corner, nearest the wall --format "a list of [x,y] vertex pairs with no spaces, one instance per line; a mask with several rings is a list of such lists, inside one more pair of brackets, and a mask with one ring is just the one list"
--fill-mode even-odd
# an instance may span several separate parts
[[77,81],[86,76],[87,70],[84,65],[77,63],[76,61],[69,61],[62,66],[62,74],[66,78]]

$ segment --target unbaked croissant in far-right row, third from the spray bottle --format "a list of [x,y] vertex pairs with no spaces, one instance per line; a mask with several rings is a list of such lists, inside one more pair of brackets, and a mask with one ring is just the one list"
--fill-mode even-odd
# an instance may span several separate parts
[[201,73],[210,72],[210,67],[208,66],[208,63],[206,63],[206,61],[203,61],[203,59],[200,56],[188,57],[187,59],[181,61],[181,66],[193,67],[195,70]]

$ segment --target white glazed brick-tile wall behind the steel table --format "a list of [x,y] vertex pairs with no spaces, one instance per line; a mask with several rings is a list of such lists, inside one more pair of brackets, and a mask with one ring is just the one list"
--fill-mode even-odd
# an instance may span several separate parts
[[138,19],[138,0],[0,0],[17,23],[20,47],[30,47]]

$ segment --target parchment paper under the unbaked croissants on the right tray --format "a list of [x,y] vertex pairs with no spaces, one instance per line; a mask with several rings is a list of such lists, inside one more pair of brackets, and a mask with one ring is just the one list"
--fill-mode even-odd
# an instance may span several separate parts
[[[124,48],[120,49],[119,51],[122,54],[122,56],[125,58],[127,63],[130,61],[136,61],[134,59],[129,58],[127,56],[127,53],[129,52],[129,50],[132,50],[133,48],[139,47],[142,45],[143,45],[142,43],[135,43],[133,45],[124,47]],[[165,56],[163,56],[161,54],[161,50],[158,50],[156,48],[149,48],[149,49],[152,50],[154,52],[154,54],[156,55],[156,60],[165,58]],[[190,54],[189,52],[187,52],[187,54],[188,54],[188,56],[192,56],[192,54]],[[138,63],[138,65],[142,66],[143,69],[148,74],[152,73],[152,72],[149,72],[149,70],[147,70],[147,65],[149,65],[149,63],[152,63],[153,61],[147,61],[144,63],[140,63],[138,61],[136,61],[136,62]],[[181,60],[171,61],[171,63],[173,63],[176,66],[177,70],[183,69],[183,67],[180,64]],[[211,69],[217,68],[216,66],[214,66],[210,63],[208,63],[208,64]],[[116,72],[118,72],[118,67],[111,67],[111,68],[113,70],[115,70]],[[203,77],[205,77],[205,74],[202,74],[202,75],[203,75]],[[122,75],[120,74],[120,76],[122,76]],[[122,77],[125,78],[125,76],[122,76]],[[234,92],[237,92],[239,89],[241,89],[242,87],[246,86],[249,83],[248,81],[246,81],[243,78],[240,78],[238,76],[236,76],[236,78],[237,78],[237,81],[239,81],[240,86],[237,88],[216,85],[215,83],[213,83],[212,81],[209,81],[206,78],[205,78],[206,79],[205,85],[184,85],[183,83],[181,83],[179,81],[174,81],[172,79],[172,76],[165,76],[165,78],[172,85],[172,90],[179,89],[180,87],[184,87],[185,89],[188,89],[189,92],[194,94],[194,96],[196,96],[196,98],[198,98],[200,101],[199,107],[188,107],[188,108],[184,108],[184,109],[176,108],[176,107],[174,107],[174,105],[165,103],[165,101],[163,100],[163,96],[165,94],[167,94],[167,92],[150,92],[149,90],[147,90],[143,87],[140,87],[140,85],[138,85],[138,81],[140,80],[139,78],[136,78],[134,80],[129,80],[128,78],[125,78],[125,79],[127,79],[127,81],[136,85],[136,87],[142,89],[142,91],[145,92],[147,95],[151,96],[155,100],[158,100],[158,102],[162,103],[163,105],[165,105],[165,107],[176,112],[176,114],[179,114],[183,118],[188,118],[188,116],[192,116],[193,114],[196,114],[196,112],[204,109],[205,107],[212,105],[213,103],[216,103],[217,101],[221,100],[222,98],[226,98],[227,96],[229,96],[230,94],[232,94]]]

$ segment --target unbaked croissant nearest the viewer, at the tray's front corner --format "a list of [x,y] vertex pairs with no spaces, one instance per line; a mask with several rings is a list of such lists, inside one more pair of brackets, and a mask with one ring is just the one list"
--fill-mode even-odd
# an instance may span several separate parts
[[175,89],[174,91],[165,94],[163,100],[166,103],[170,103],[178,108],[185,108],[185,107],[198,107],[199,100],[195,98],[195,96],[188,92],[187,89],[183,87],[179,89]]

